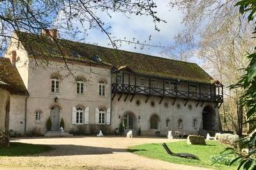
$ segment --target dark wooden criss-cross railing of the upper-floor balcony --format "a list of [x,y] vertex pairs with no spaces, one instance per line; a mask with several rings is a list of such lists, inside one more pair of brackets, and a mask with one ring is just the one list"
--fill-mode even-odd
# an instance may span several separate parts
[[112,84],[112,93],[120,94],[142,94],[149,96],[172,97],[175,99],[188,99],[197,101],[223,102],[223,95],[195,93],[182,90],[169,90],[155,87],[144,87],[139,85]]

